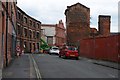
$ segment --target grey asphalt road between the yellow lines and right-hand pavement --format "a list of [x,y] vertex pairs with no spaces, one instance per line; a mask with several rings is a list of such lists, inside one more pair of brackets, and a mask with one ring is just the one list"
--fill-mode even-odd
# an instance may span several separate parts
[[62,59],[57,55],[34,54],[41,78],[118,78],[118,70],[90,60]]

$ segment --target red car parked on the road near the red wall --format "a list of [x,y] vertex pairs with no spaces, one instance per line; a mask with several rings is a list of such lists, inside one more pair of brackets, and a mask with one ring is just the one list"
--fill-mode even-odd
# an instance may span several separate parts
[[60,49],[59,57],[79,59],[79,53],[76,47],[67,46]]

